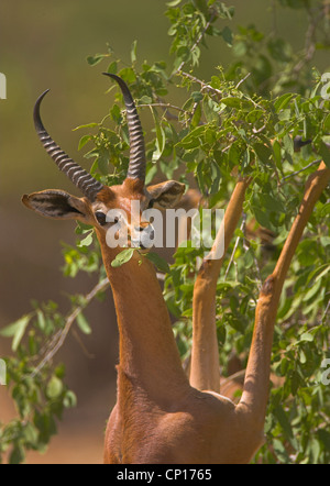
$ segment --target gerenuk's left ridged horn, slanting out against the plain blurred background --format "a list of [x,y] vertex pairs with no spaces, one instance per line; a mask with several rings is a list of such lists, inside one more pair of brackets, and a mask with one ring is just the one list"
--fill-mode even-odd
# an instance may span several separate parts
[[103,188],[103,185],[96,180],[88,172],[81,168],[76,162],[74,162],[51,137],[51,135],[45,130],[41,115],[40,107],[44,97],[50,90],[47,89],[43,92],[34,106],[33,120],[36,133],[41,140],[46,152],[51,155],[53,161],[55,161],[59,170],[74,183],[78,189],[81,190],[84,196],[86,196],[91,202],[95,201],[97,194]]

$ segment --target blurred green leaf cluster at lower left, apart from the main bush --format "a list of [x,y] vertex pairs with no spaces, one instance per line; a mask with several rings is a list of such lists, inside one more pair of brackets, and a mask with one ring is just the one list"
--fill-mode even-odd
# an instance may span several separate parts
[[[63,365],[36,364],[56,334],[64,327],[55,302],[40,305],[35,310],[1,331],[12,338],[13,357],[7,362],[7,384],[18,410],[18,418],[0,429],[0,457],[11,446],[10,463],[24,461],[26,450],[43,451],[56,433],[56,419],[64,408],[74,407],[76,397],[64,384]],[[22,338],[25,334],[24,343]]]

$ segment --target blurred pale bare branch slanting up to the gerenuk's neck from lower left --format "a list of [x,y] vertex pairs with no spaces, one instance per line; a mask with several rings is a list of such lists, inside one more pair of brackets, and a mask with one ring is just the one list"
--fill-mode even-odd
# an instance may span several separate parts
[[51,346],[50,351],[47,352],[45,357],[41,361],[41,363],[31,373],[32,378],[34,378],[42,371],[42,368],[55,356],[55,354],[58,352],[58,350],[63,346],[63,344],[66,340],[66,336],[67,336],[73,323],[75,322],[75,320],[79,316],[79,313],[82,312],[82,310],[90,303],[90,301],[99,292],[106,290],[106,288],[108,286],[109,286],[109,280],[108,280],[108,278],[105,278],[98,285],[96,285],[92,288],[92,290],[85,297],[84,305],[76,307],[76,309],[68,316],[68,318],[65,322],[64,329],[61,331],[59,334],[56,334],[56,336],[57,336],[56,344],[53,344],[53,341],[52,341],[52,346]]

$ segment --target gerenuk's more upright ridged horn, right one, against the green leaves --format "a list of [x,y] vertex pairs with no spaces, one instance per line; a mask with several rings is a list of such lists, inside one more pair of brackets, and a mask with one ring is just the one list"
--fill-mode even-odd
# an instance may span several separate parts
[[109,76],[118,82],[127,107],[131,145],[130,165],[127,177],[131,179],[140,179],[144,183],[146,165],[144,136],[133,97],[128,85],[119,76],[112,75],[110,73],[103,73],[103,75]]

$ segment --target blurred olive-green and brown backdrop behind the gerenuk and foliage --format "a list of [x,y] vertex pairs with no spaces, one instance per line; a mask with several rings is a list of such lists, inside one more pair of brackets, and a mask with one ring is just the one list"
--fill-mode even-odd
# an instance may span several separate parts
[[[255,23],[265,33],[272,29],[272,0],[230,3],[237,7],[233,25]],[[86,276],[65,279],[58,270],[63,264],[59,241],[75,241],[74,224],[38,218],[20,202],[23,194],[46,188],[77,194],[34,133],[32,110],[37,96],[51,88],[43,104],[45,125],[72,157],[89,167],[77,153],[82,132],[73,129],[100,121],[112,98],[106,95],[109,81],[100,75],[107,63],[91,67],[86,58],[106,52],[108,43],[117,57],[130,63],[130,48],[138,40],[141,62],[169,60],[165,10],[163,0],[1,1],[0,71],[7,76],[8,99],[0,101],[0,328],[29,312],[32,298],[53,299],[65,309],[66,294],[88,291],[94,285]],[[277,27],[296,48],[304,47],[306,24],[300,11],[279,9]],[[200,76],[207,79],[231,56],[221,38],[212,40],[202,56]],[[324,68],[327,55],[320,54],[318,63],[320,70]],[[67,362],[78,410],[67,412],[50,455],[43,460],[33,455],[31,462],[102,459],[102,433],[116,391],[117,327],[111,296],[102,306],[91,306],[88,314],[94,334],[84,336],[87,352],[69,338],[59,356]],[[7,352],[8,343],[1,340],[0,356]],[[0,421],[11,413],[1,388]],[[89,434],[88,440],[78,432]]]

